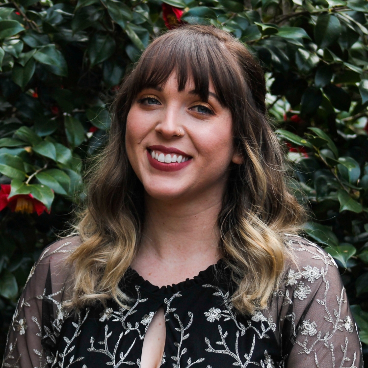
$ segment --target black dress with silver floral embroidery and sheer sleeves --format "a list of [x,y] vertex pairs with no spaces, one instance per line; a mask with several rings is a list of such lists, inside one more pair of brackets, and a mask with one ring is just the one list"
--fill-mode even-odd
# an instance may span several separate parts
[[[121,289],[129,308],[109,301],[68,312],[72,277],[63,266],[78,237],[48,247],[33,267],[10,328],[3,367],[140,367],[145,333],[163,307],[161,367],[362,368],[356,326],[333,259],[305,239],[286,237],[296,263],[269,307],[237,313],[220,260],[193,279],[158,288],[129,269]],[[142,367],[143,368],[143,367]]]

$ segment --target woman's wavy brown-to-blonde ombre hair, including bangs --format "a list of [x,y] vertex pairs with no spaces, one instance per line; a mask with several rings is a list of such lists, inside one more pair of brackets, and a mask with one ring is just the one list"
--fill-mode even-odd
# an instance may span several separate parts
[[70,256],[74,289],[70,305],[83,307],[128,298],[119,288],[144,224],[144,188],[129,163],[127,115],[144,88],[162,86],[176,72],[178,90],[193,78],[206,101],[211,80],[232,113],[234,144],[243,157],[232,163],[218,215],[219,248],[237,285],[233,303],[244,314],[267,306],[288,259],[285,233],[296,233],[305,212],[289,192],[283,153],[265,105],[265,79],[252,53],[230,33],[211,26],[182,26],[156,38],[125,78],[114,102],[109,140],[89,175],[87,204],[77,229],[81,244]]

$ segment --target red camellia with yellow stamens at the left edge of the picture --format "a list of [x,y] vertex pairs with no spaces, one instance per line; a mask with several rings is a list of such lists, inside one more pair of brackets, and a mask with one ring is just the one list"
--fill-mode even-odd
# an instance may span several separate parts
[[5,207],[9,207],[12,212],[37,212],[38,215],[43,211],[50,213],[42,202],[33,198],[32,194],[18,194],[8,199],[10,190],[10,184],[1,184],[0,211]]

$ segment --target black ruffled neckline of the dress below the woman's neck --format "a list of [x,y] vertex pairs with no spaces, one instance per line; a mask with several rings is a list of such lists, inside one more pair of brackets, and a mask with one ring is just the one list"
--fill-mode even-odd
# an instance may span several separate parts
[[178,284],[158,287],[151,284],[148,280],[145,280],[137,271],[129,267],[124,277],[124,283],[126,286],[128,286],[127,284],[137,285],[141,289],[156,295],[175,294],[178,291],[188,290],[198,285],[204,285],[210,281],[216,280],[218,282],[226,276],[227,269],[225,261],[221,258],[217,263],[211,264],[191,279],[187,278],[185,281],[181,281]]

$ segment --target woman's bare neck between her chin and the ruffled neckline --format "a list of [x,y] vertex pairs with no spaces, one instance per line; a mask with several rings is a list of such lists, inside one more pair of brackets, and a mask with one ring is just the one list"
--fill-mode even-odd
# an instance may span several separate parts
[[142,239],[131,265],[144,279],[157,286],[177,284],[221,258],[221,196],[170,203],[147,196],[145,207]]

